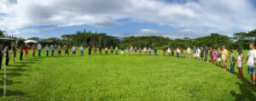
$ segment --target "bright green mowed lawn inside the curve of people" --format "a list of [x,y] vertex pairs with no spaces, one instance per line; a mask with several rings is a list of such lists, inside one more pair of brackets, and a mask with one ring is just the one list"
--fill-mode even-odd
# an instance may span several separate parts
[[237,68],[233,75],[194,59],[86,52],[45,57],[43,52],[7,67],[6,99],[0,71],[0,100],[256,100],[246,65],[240,80]]

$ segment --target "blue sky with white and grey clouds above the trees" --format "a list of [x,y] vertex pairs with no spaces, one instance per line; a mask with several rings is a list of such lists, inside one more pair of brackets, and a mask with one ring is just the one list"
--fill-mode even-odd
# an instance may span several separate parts
[[110,36],[195,38],[256,28],[255,0],[1,0],[9,36],[60,37],[76,31]]

